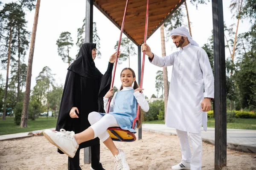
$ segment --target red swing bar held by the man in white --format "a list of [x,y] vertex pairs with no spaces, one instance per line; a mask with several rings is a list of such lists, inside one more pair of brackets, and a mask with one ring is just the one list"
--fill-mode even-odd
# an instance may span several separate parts
[[[147,40],[147,34],[148,34],[148,2],[147,0],[147,11],[146,11],[146,21],[145,21],[145,34],[144,34],[144,43],[146,43]],[[144,75],[144,64],[145,64],[145,51],[143,51],[143,59],[142,59],[142,67],[141,67],[141,76],[140,76],[140,88],[142,88],[143,85],[143,75]],[[132,124],[132,128],[135,129],[135,123],[140,123],[140,105],[138,104],[137,107],[137,116],[134,119],[134,122]]]

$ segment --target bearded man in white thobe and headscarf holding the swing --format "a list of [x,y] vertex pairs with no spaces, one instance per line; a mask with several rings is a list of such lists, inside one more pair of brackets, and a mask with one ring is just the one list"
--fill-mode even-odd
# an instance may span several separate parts
[[[185,27],[170,32],[176,51],[166,57],[158,57],[144,43],[152,64],[159,67],[173,66],[166,113],[166,126],[177,130],[182,161],[173,170],[201,170],[201,127],[207,130],[207,111],[214,98],[214,78],[207,53],[192,40]],[[189,133],[189,137],[188,137]],[[193,155],[190,150],[191,141]]]

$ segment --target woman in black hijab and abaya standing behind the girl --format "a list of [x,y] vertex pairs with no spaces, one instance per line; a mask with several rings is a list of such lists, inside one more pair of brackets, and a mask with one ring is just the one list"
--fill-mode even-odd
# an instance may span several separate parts
[[[103,96],[111,85],[113,63],[116,53],[111,55],[105,74],[96,68],[96,44],[84,43],[77,59],[70,65],[61,98],[56,130],[61,128],[80,133],[90,127],[88,114],[92,111],[104,112]],[[99,162],[99,138],[81,143],[74,158],[68,157],[69,170],[81,170],[79,166],[79,151],[84,147],[91,147],[91,169],[104,170]],[[59,153],[63,154],[61,150]]]

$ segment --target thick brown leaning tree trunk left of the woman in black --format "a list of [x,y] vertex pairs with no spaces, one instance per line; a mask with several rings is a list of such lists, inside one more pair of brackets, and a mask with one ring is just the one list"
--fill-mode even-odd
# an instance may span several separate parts
[[36,36],[36,29],[37,29],[37,24],[38,24],[40,1],[41,0],[37,0],[36,6],[35,6],[35,18],[34,18],[34,25],[33,25],[33,30],[32,30],[31,45],[30,45],[30,51],[29,51],[29,62],[28,62],[27,76],[26,76],[26,92],[25,92],[25,96],[24,96],[20,127],[27,127],[27,123],[28,123],[27,115],[28,115],[28,110],[29,110],[32,63],[33,63],[34,50],[35,50],[35,36]]

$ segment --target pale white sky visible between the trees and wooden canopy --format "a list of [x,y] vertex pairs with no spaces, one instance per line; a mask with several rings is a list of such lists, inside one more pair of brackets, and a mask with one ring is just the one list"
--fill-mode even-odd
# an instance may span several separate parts
[[[4,3],[16,2],[17,0],[2,0]],[[78,53],[78,47],[75,45],[77,41],[77,29],[83,25],[83,19],[85,17],[85,1],[86,0],[41,0],[38,27],[35,39],[35,51],[32,65],[32,80],[31,89],[35,86],[35,78],[42,71],[45,66],[48,66],[52,70],[52,74],[55,74],[55,81],[58,85],[64,85],[68,64],[64,63],[60,56],[58,56],[58,50],[56,41],[58,40],[61,32],[69,31],[73,39],[74,46],[71,48],[70,55],[75,58]],[[192,37],[193,40],[198,42],[199,46],[203,46],[207,43],[208,38],[212,34],[212,3],[207,5],[198,5],[198,9],[195,6],[187,3],[189,10],[189,19],[192,22]],[[230,0],[223,1],[224,22],[227,26],[233,23],[237,23],[235,18],[232,18],[230,9]],[[125,8],[125,7],[124,7]],[[185,11],[184,11],[185,12]],[[35,10],[26,11],[26,20],[28,21],[27,30],[32,32],[34,23]],[[184,17],[187,27],[187,20]],[[120,30],[111,23],[97,8],[93,7],[93,22],[96,22],[98,35],[100,37],[100,44],[102,57],[101,59],[95,59],[96,67],[102,74],[105,73],[108,66],[108,59],[115,52],[114,46],[116,41],[119,40]],[[243,21],[239,23],[239,33],[249,31],[250,23]],[[188,28],[188,27],[187,27]],[[134,28],[136,29],[136,28]],[[125,35],[122,35],[122,38]],[[170,37],[166,37],[171,39]],[[161,56],[161,39],[160,29],[158,29],[148,40],[147,44],[151,47],[151,51]],[[136,53],[137,46],[134,45]],[[172,52],[179,50],[172,43],[172,40],[166,42],[166,55],[172,54]],[[122,52],[122,51],[121,51]],[[142,53],[143,54],[143,53]],[[29,50],[24,59],[24,62],[28,63]],[[226,58],[229,57],[229,52],[226,49]],[[136,56],[131,56],[131,68],[138,74],[138,59]],[[121,85],[120,72],[123,68],[128,67],[127,62],[123,62],[121,65],[117,65],[116,76],[114,85],[119,88]],[[158,70],[163,70],[157,66],[152,65],[147,56],[145,57],[145,69],[143,79],[143,92],[148,98],[152,94],[157,95],[155,88],[155,77]],[[167,68],[168,81],[170,81],[172,66]],[[3,77],[6,77],[6,71],[1,70]],[[10,76],[9,76],[10,77]],[[138,77],[138,75],[137,75]],[[137,79],[138,81],[138,79]],[[158,96],[161,95],[160,94]]]

